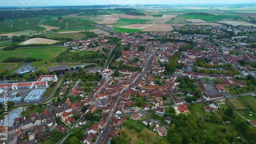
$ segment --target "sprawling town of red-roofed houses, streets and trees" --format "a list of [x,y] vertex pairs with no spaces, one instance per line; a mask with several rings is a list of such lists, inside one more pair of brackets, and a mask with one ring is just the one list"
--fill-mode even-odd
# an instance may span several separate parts
[[64,42],[67,51],[52,60],[61,65],[0,84],[10,110],[8,127],[1,117],[0,136],[8,129],[5,143],[190,143],[179,130],[204,130],[196,143],[215,141],[215,133],[225,135],[219,143],[252,143],[256,50],[249,43],[256,37],[245,34],[255,27],[174,29]]

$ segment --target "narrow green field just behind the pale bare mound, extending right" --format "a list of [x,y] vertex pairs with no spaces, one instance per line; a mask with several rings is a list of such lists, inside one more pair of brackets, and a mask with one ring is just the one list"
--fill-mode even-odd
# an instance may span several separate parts
[[79,39],[79,38],[84,38],[87,35],[86,34],[80,34],[80,33],[50,33],[50,34],[45,34],[44,36],[48,38],[71,38],[71,39]]

